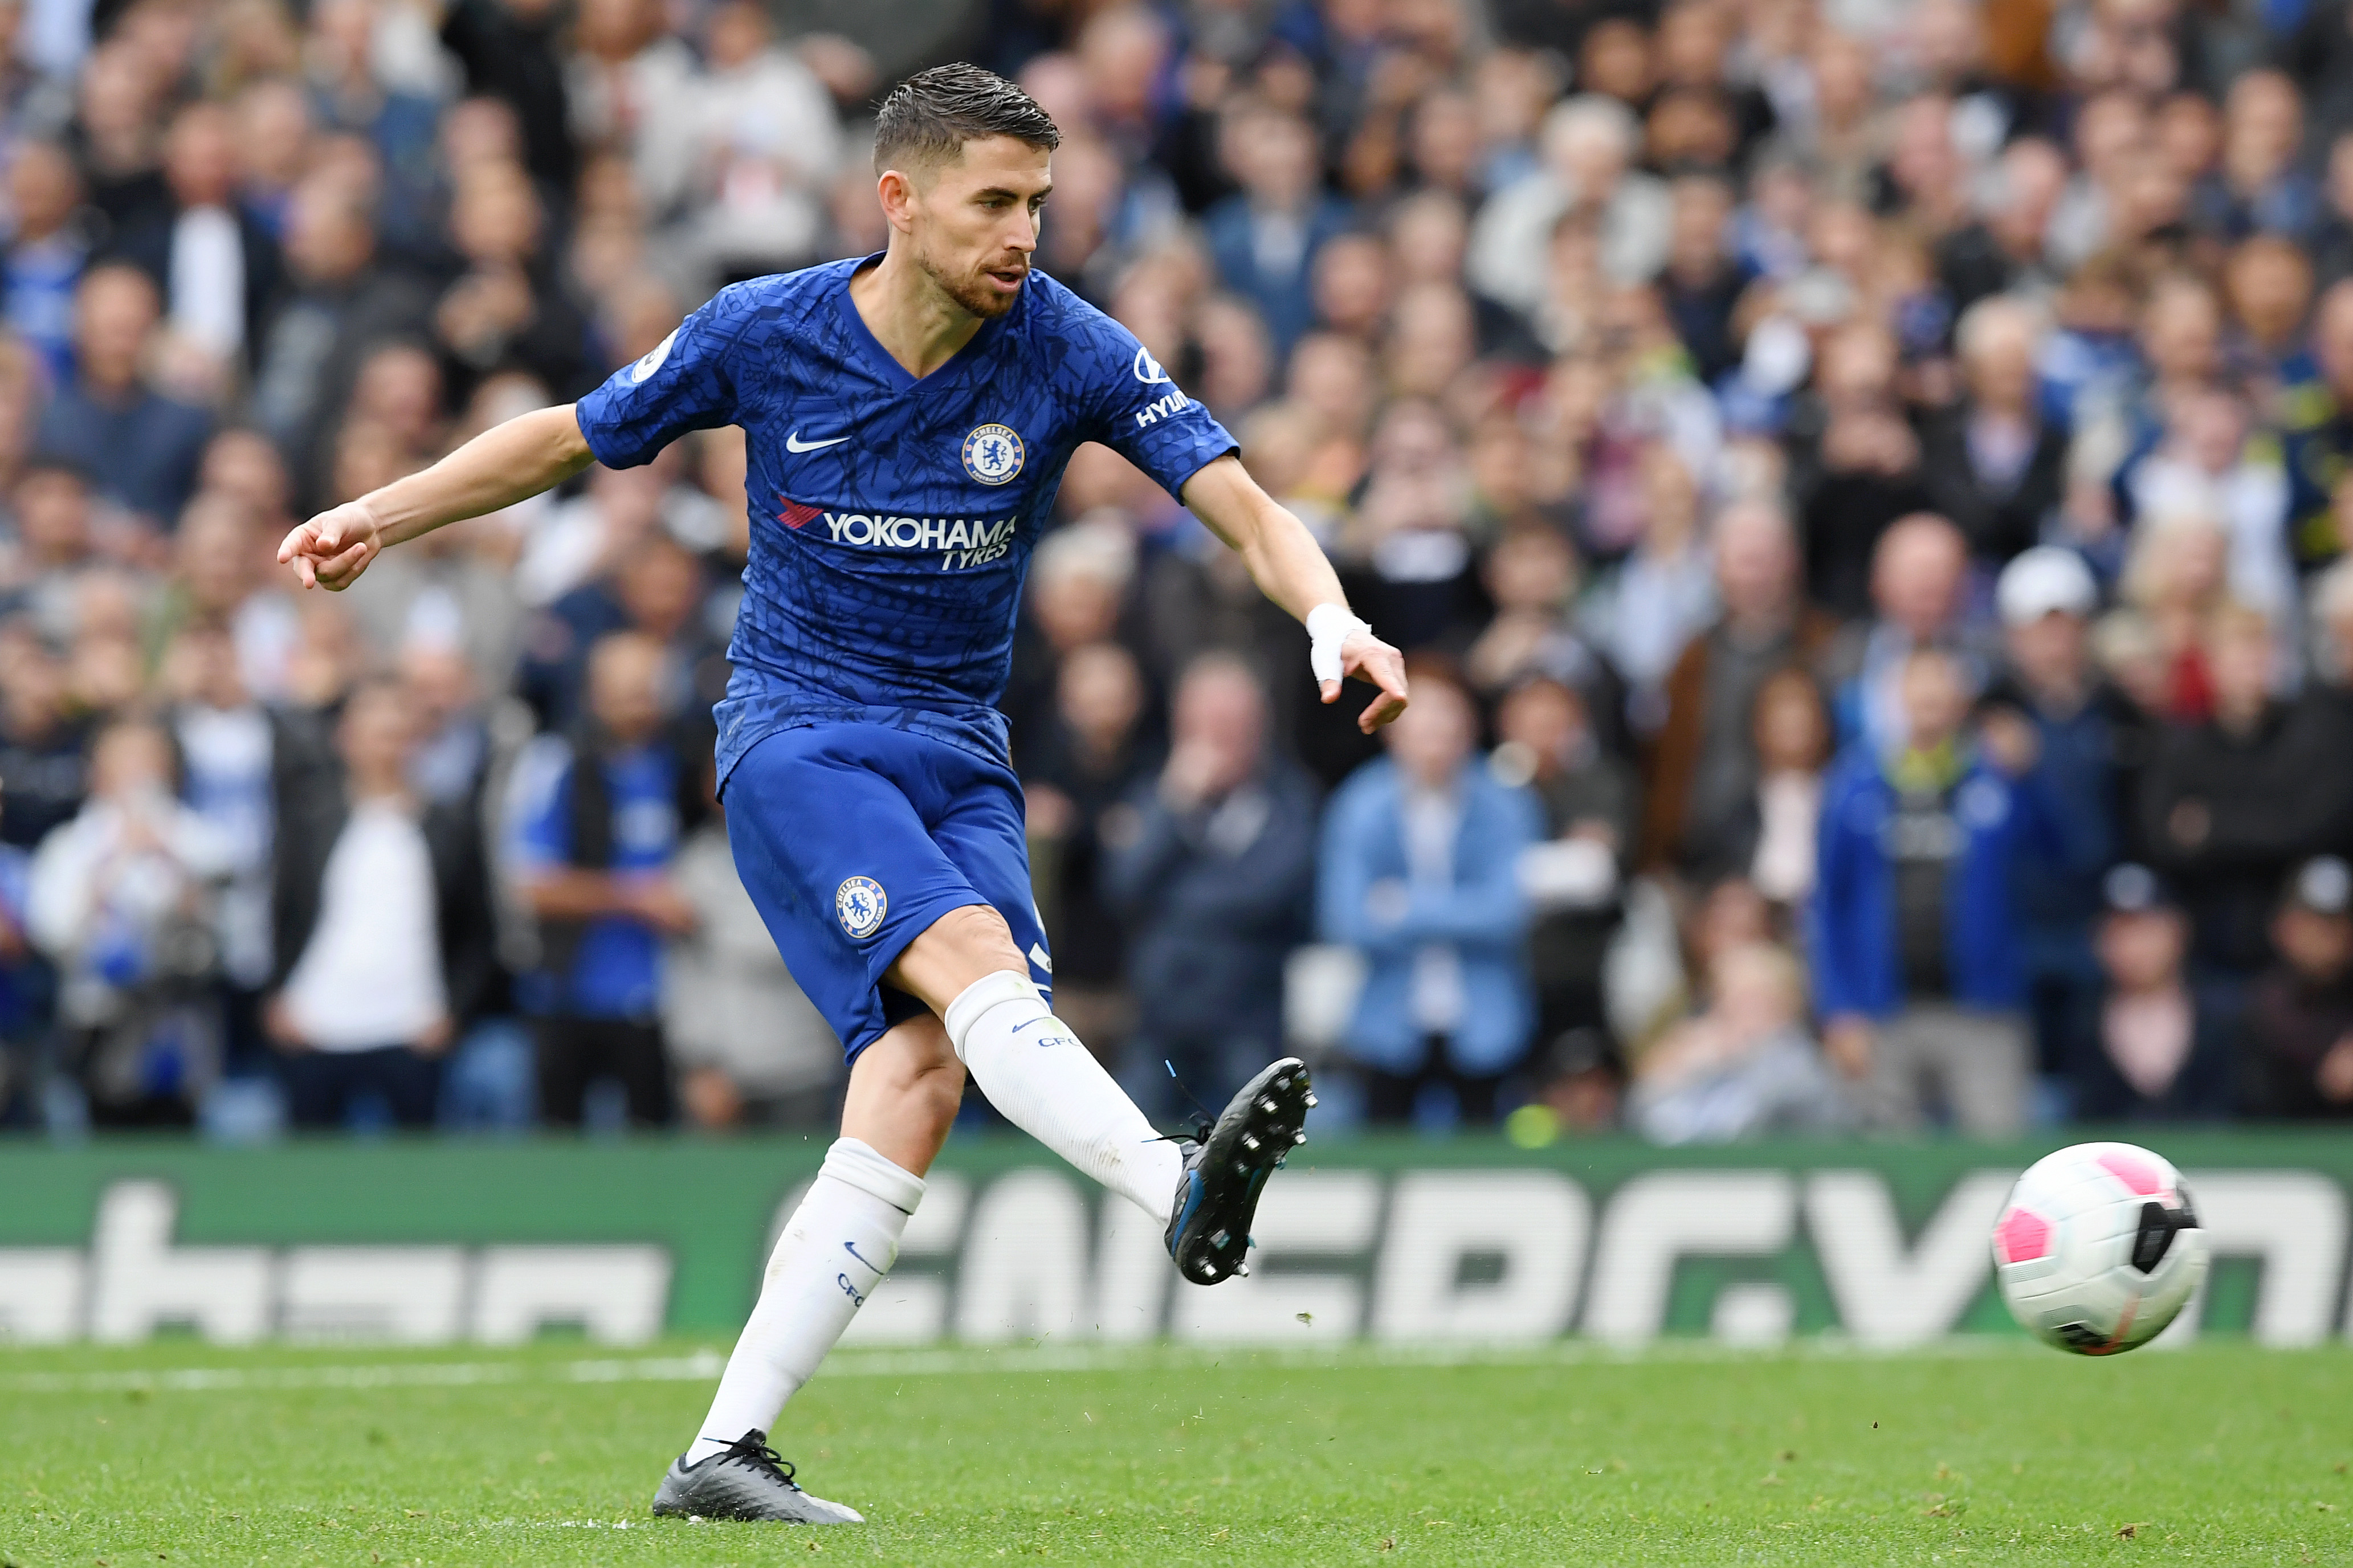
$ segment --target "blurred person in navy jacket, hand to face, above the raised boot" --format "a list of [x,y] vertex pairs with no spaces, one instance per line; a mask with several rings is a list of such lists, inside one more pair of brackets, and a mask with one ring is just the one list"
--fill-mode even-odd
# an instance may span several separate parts
[[1231,654],[1176,684],[1169,759],[1101,823],[1104,893],[1132,938],[1129,1074],[1202,1103],[1282,1046],[1282,961],[1306,938],[1315,785],[1266,745],[1266,691]]

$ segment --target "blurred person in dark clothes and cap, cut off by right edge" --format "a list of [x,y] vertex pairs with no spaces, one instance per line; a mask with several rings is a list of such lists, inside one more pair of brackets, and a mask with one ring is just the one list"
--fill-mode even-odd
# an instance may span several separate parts
[[2247,992],[2240,1110],[2259,1119],[2353,1119],[2353,870],[2297,867],[2271,917],[2278,959]]

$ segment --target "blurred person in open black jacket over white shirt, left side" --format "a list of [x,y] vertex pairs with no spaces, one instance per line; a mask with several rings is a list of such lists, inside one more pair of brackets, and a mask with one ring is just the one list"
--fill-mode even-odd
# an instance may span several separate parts
[[299,1128],[346,1124],[362,1093],[431,1126],[442,1058],[496,983],[480,818],[416,799],[414,748],[407,693],[362,684],[336,724],[341,776],[280,799],[264,1023]]

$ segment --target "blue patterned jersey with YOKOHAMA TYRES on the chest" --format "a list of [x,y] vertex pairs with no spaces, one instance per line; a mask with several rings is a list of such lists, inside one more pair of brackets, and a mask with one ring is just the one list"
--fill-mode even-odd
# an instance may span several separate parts
[[720,289],[579,402],[607,468],[744,425],[751,562],[718,705],[722,780],[762,736],[833,722],[1002,764],[1021,576],[1071,454],[1104,442],[1176,494],[1235,449],[1134,334],[1038,270],[918,381],[849,303],[873,261]]

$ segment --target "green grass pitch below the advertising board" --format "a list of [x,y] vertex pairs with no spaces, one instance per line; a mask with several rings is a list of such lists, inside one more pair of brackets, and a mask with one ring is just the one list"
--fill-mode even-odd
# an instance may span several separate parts
[[5,1352],[0,1561],[2353,1563],[2344,1347],[845,1354],[835,1530],[647,1516],[711,1366]]

